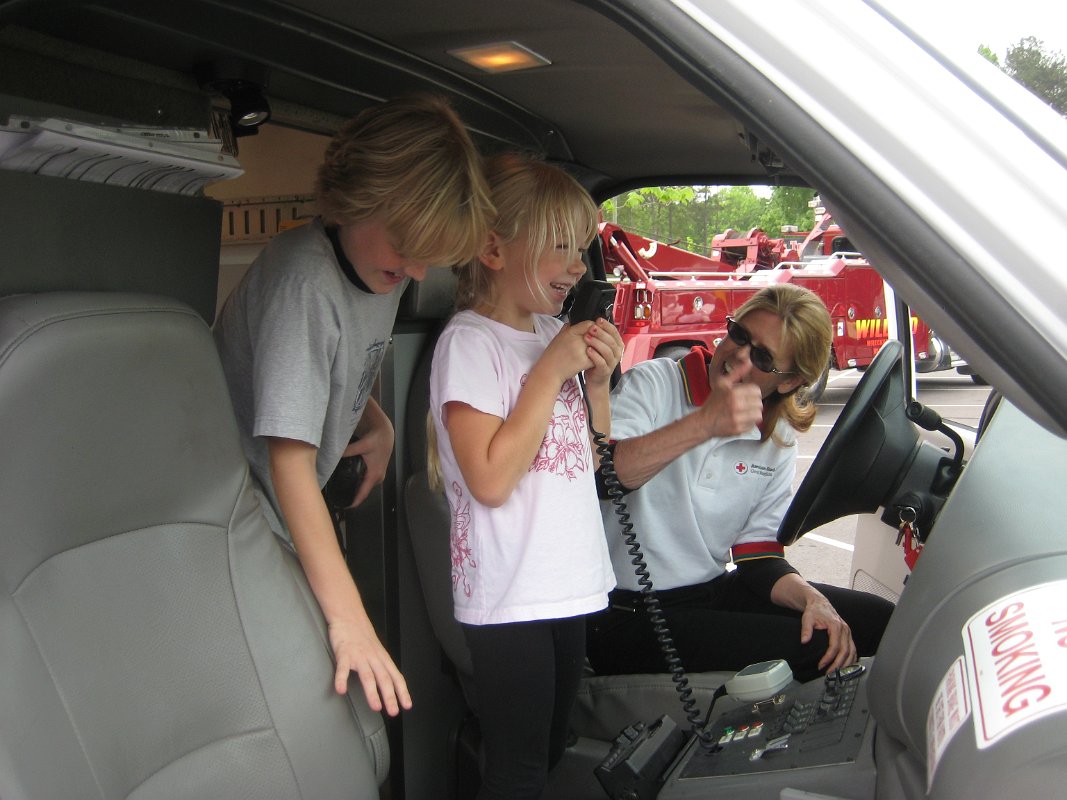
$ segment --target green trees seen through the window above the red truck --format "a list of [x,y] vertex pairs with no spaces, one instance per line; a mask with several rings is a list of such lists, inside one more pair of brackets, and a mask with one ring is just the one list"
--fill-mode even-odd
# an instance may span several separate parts
[[730,228],[742,235],[761,228],[771,237],[782,225],[810,230],[812,195],[795,187],[774,187],[769,196],[747,186],[653,187],[612,197],[601,208],[604,219],[627,230],[707,254],[713,237]]

